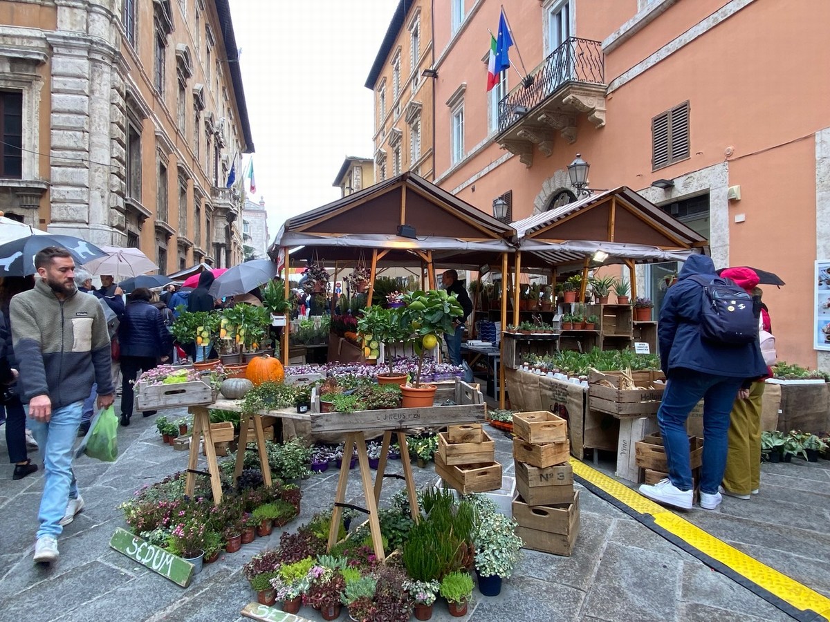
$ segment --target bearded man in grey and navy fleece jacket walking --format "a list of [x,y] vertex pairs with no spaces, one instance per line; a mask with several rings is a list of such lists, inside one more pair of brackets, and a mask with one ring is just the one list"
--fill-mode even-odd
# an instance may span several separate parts
[[41,279],[12,298],[10,315],[20,399],[46,471],[34,561],[49,563],[57,560],[62,526],[84,506],[71,467],[83,402],[93,382],[100,408],[113,403],[115,391],[104,309],[78,294],[69,251],[49,246],[35,255],[35,268]]

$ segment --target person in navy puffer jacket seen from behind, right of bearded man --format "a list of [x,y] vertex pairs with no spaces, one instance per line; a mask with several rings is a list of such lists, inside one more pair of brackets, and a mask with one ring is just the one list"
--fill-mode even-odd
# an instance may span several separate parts
[[[129,294],[129,304],[118,327],[121,342],[121,425],[133,415],[133,381],[139,372],[168,360],[172,341],[159,309],[149,303],[152,292],[139,287]],[[155,411],[144,411],[144,416]]]

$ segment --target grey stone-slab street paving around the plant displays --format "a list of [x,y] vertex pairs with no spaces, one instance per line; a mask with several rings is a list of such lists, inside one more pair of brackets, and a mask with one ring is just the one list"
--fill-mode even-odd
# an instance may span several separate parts
[[[182,414],[169,411],[168,416]],[[242,607],[255,600],[240,569],[253,553],[276,546],[277,534],[205,566],[187,590],[108,546],[115,527],[124,525],[116,506],[142,484],[185,467],[187,454],[163,445],[153,420],[139,416],[129,428],[120,428],[117,462],[77,461],[86,506],[66,527],[59,541],[61,559],[51,569],[32,564],[41,471],[16,482],[12,468],[3,467],[0,620],[238,620]],[[510,474],[510,441],[496,430],[491,435],[496,459],[508,465],[505,474]],[[5,444],[0,447],[7,464]],[[400,469],[400,463],[391,464]],[[415,474],[421,484],[435,479],[432,468],[416,468]],[[302,514],[288,527],[294,529],[330,503],[335,481],[332,469],[303,481]],[[401,484],[389,480],[384,497]],[[349,496],[358,495],[355,473]],[[588,490],[580,498],[582,527],[574,556],[525,552],[500,596],[486,598],[476,591],[467,620],[789,620]],[[757,498],[726,498],[720,511],[684,516],[830,596],[830,462],[764,464]],[[320,620],[313,613],[308,607],[300,611]],[[433,619],[450,619],[446,605],[437,605]]]

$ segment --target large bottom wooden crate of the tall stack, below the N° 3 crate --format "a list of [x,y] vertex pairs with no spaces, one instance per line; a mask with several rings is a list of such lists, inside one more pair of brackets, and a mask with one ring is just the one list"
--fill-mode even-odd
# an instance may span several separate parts
[[525,548],[570,556],[579,537],[579,491],[566,503],[530,507],[520,497],[513,501],[516,533]]

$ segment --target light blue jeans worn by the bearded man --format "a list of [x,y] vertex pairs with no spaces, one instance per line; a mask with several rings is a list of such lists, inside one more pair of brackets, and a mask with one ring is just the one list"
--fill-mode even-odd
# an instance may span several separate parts
[[[41,509],[37,514],[41,522],[37,537],[58,537],[63,527],[58,523],[66,513],[66,503],[70,498],[78,497],[78,485],[72,472],[72,444],[81,425],[82,401],[68,406],[61,406],[52,411],[48,423],[27,419],[37,445],[43,456],[43,468],[46,471],[41,497]],[[29,414],[29,406],[26,406]]]

